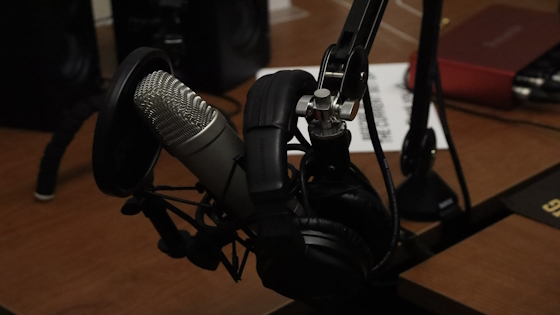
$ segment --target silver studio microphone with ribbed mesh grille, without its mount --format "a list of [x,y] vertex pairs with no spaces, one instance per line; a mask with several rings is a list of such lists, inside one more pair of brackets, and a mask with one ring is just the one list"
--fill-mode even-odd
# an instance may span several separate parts
[[254,213],[245,171],[237,165],[244,155],[243,140],[218,110],[162,70],[142,79],[134,103],[166,151],[213,197],[237,218]]

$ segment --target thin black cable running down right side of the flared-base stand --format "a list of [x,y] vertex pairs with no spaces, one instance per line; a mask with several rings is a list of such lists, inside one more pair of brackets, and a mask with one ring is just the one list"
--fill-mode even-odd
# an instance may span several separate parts
[[436,86],[436,105],[439,114],[439,120],[441,121],[441,126],[443,128],[443,133],[445,134],[445,139],[447,140],[447,145],[449,146],[449,153],[451,153],[451,159],[453,160],[453,166],[455,167],[455,173],[457,174],[457,180],[461,186],[461,193],[463,194],[463,202],[465,203],[465,213],[470,215],[471,211],[471,197],[469,194],[469,189],[467,187],[467,181],[465,179],[465,174],[463,173],[463,168],[461,167],[461,161],[459,160],[459,154],[451,137],[451,130],[449,129],[449,124],[447,123],[447,115],[445,114],[445,101],[443,98],[443,90],[441,87],[441,74],[439,72],[439,65],[435,64],[435,86]]

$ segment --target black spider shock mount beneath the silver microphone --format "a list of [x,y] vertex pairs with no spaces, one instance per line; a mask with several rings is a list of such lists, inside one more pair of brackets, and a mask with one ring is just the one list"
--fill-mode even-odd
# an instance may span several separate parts
[[[201,191],[199,184],[194,187],[154,187],[148,185],[126,201],[121,208],[121,213],[124,215],[144,213],[161,237],[157,243],[158,249],[169,257],[176,259],[187,258],[194,265],[211,271],[216,270],[221,263],[235,282],[241,280],[248,255],[254,251],[251,241],[251,237],[254,237],[254,235],[246,228],[251,222],[250,219],[248,221],[228,222],[227,217],[222,217],[224,211],[221,208],[221,203],[210,194],[206,194],[201,202],[193,202],[157,193],[158,190],[195,190],[199,193],[204,192],[204,190]],[[197,205],[196,218],[192,218],[166,199]],[[177,229],[177,226],[167,213],[168,210],[194,227],[197,231],[196,235],[191,236],[188,231]],[[204,223],[205,215],[216,226],[206,225]],[[241,239],[237,230],[243,230],[249,238]],[[241,259],[239,259],[237,254],[237,243],[245,247]],[[223,252],[223,248],[229,244],[231,244],[232,248],[231,260]]]

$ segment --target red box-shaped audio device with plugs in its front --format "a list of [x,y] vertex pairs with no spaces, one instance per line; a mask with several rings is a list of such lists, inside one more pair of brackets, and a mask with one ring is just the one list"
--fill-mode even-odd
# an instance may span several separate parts
[[[440,36],[446,96],[511,108],[515,74],[560,43],[560,14],[493,5]],[[416,54],[410,59],[414,85]]]

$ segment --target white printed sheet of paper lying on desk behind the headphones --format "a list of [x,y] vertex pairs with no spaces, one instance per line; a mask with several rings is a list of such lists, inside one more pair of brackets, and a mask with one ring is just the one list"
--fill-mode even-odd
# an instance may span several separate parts
[[[410,128],[413,94],[404,87],[404,75],[407,67],[408,63],[371,64],[369,66],[368,84],[375,125],[385,152],[401,151],[404,138]],[[301,69],[311,73],[315,78],[319,75],[319,66],[265,68],[257,72],[257,78],[286,69]],[[373,152],[363,104],[360,104],[356,119],[347,122],[347,126],[352,133],[350,152]],[[436,133],[437,148],[447,149],[447,141],[433,103],[430,106],[428,126],[433,128]],[[298,120],[298,128],[309,141],[307,122],[304,118]],[[297,143],[297,140],[293,139],[290,143]],[[297,151],[290,151],[290,153],[297,154]]]

